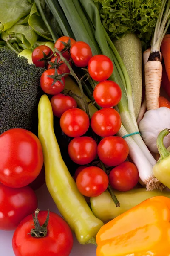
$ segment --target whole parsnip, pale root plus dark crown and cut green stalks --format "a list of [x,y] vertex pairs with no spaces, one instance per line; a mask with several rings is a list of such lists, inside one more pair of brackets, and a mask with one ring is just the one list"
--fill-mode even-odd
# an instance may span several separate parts
[[[162,78],[160,48],[164,35],[170,25],[170,0],[163,0],[161,11],[156,21],[151,44],[150,56],[144,67],[147,110],[159,108],[159,93]],[[167,53],[166,53],[167,54]]]

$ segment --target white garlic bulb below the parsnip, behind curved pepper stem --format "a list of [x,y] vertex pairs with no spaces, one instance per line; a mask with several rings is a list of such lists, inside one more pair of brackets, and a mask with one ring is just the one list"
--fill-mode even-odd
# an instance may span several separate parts
[[[157,109],[148,110],[143,119],[139,122],[139,131],[142,134],[144,143],[148,146],[150,151],[158,153],[156,145],[157,137],[160,131],[170,129],[170,109],[161,107]],[[164,146],[170,146],[170,134],[164,137]]]

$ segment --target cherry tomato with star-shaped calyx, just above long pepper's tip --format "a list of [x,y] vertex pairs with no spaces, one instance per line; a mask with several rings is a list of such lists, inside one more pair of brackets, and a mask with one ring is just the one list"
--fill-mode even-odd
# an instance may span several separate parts
[[[57,70],[57,73],[58,75],[61,74],[59,70]],[[55,84],[51,86],[54,79],[48,76],[54,76],[54,74],[55,74],[55,69],[48,69],[48,70],[45,70],[44,73],[42,73],[42,76],[40,78],[40,85],[42,90],[45,93],[52,94],[52,95],[61,93],[65,86],[64,77],[62,77],[61,79],[62,82],[56,81]]]

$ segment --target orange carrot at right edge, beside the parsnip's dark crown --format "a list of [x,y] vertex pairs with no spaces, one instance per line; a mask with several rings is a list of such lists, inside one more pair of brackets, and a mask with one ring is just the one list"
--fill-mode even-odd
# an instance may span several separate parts
[[161,52],[164,58],[164,64],[167,76],[170,82],[170,35],[165,35],[161,43]]

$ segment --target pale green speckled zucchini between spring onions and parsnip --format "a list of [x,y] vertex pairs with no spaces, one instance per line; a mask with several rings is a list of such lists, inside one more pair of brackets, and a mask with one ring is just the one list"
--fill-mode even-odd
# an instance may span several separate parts
[[129,74],[132,86],[132,99],[136,119],[142,101],[142,45],[134,34],[127,34],[121,39],[113,40]]

